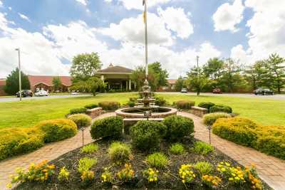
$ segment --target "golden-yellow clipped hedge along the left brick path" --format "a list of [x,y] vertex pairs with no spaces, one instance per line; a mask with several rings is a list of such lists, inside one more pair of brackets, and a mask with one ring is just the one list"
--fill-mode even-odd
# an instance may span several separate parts
[[31,152],[43,147],[45,142],[55,142],[77,133],[72,120],[47,120],[31,128],[9,128],[0,130],[0,160]]

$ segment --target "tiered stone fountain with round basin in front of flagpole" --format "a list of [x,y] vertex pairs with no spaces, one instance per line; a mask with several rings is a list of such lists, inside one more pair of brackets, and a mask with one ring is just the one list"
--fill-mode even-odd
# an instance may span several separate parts
[[150,86],[145,80],[142,92],[140,92],[141,99],[138,99],[138,104],[135,107],[127,107],[116,110],[116,115],[123,118],[164,118],[170,115],[177,115],[177,110],[171,107],[160,107],[155,105],[155,99],[152,98],[153,93],[150,92]]

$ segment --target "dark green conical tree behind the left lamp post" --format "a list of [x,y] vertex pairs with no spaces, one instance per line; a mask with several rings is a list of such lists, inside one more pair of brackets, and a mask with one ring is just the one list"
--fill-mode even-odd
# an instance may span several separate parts
[[[29,90],[31,88],[28,76],[21,72],[21,89]],[[4,91],[9,95],[15,95],[19,92],[19,68],[13,70],[6,78],[6,86]]]

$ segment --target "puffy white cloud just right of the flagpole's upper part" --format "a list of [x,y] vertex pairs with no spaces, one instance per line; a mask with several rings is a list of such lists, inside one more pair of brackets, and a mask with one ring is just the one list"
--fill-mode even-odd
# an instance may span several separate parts
[[157,11],[166,23],[167,28],[175,31],[178,37],[188,38],[192,33],[194,33],[192,23],[185,14],[184,9],[168,7],[166,10],[158,8]]

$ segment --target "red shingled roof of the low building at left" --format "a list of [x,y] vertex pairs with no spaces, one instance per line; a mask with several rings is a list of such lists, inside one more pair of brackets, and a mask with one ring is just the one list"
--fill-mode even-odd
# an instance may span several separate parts
[[[31,86],[35,86],[39,83],[43,83],[48,86],[53,86],[53,78],[57,76],[37,76],[37,75],[28,75],[28,80],[30,81]],[[59,76],[61,78],[61,83],[67,87],[72,85],[71,77],[69,76]]]

